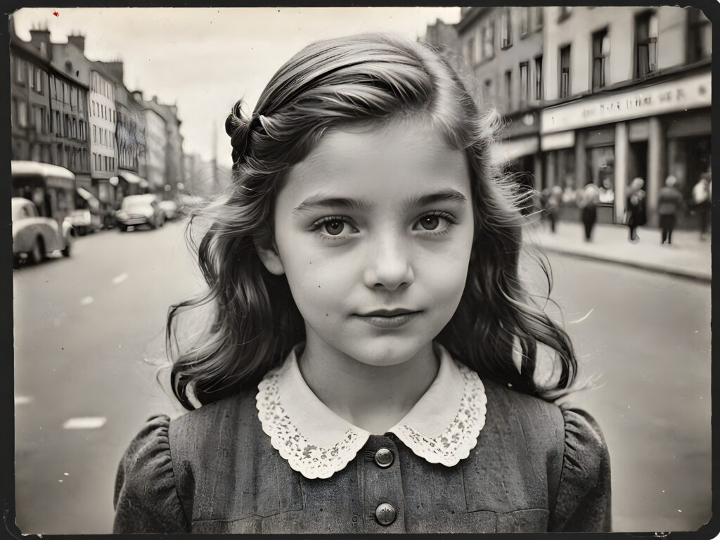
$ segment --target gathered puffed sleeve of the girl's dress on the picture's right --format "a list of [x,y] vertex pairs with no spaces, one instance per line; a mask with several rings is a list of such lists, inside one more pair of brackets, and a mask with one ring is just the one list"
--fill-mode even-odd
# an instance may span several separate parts
[[585,411],[564,409],[565,448],[550,531],[610,531],[610,456],[603,433]]

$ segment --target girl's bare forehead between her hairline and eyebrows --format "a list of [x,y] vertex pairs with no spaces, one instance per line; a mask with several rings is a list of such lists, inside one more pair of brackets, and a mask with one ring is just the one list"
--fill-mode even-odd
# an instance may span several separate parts
[[399,120],[328,130],[290,169],[281,195],[395,199],[449,188],[469,198],[469,184],[462,150],[449,148],[429,122]]

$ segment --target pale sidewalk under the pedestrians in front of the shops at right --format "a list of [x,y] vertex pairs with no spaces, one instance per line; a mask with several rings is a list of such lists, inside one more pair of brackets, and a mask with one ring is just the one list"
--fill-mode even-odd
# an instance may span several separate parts
[[623,225],[598,224],[593,239],[585,241],[582,223],[559,221],[556,232],[547,222],[531,225],[523,232],[524,240],[546,251],[595,258],[642,269],[685,276],[711,282],[711,236],[700,240],[696,230],[675,230],[672,245],[660,244],[660,229],[638,228],[638,243],[628,241],[628,228]]

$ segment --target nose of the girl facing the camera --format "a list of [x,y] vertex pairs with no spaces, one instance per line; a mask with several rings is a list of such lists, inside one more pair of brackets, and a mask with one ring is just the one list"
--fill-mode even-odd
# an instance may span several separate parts
[[408,246],[397,240],[400,239],[382,240],[369,247],[369,261],[364,274],[367,287],[394,291],[415,281]]

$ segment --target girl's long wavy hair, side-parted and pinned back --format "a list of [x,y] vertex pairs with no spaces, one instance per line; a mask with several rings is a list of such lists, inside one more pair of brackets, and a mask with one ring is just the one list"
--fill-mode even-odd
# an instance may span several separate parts
[[[187,230],[191,242],[199,238],[192,248],[207,291],[168,311],[171,385],[184,407],[194,408],[192,396],[205,404],[256,385],[305,338],[287,279],[267,271],[255,247],[271,238],[276,194],[289,168],[325,130],[398,117],[430,122],[450,148],[464,151],[471,174],[467,282],[436,341],[481,377],[521,392],[553,399],[570,389],[577,374],[570,338],[518,275],[527,195],[490,162],[497,114],[480,114],[456,73],[428,45],[369,34],[307,46],[275,73],[249,117],[239,101],[225,122],[232,183],[219,202],[194,212]],[[194,236],[202,219],[202,234]],[[178,315],[201,306],[210,308],[207,325],[182,343]],[[539,344],[553,351],[559,368],[552,384],[536,377]]]

